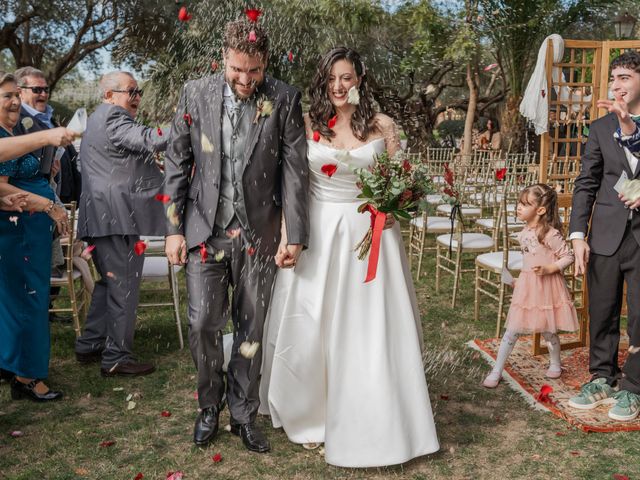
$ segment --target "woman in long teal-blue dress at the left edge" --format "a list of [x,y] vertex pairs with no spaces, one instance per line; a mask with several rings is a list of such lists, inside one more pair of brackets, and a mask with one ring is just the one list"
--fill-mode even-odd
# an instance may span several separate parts
[[[0,138],[13,136],[19,117],[18,85],[0,72]],[[62,398],[42,379],[49,371],[52,234],[65,234],[68,222],[39,170],[31,154],[0,163],[0,197],[27,193],[22,212],[0,211],[0,368],[14,374],[13,399],[46,402]]]

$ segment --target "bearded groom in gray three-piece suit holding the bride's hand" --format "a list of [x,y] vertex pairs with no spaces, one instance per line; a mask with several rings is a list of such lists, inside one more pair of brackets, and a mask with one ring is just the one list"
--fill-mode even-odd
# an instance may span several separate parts
[[172,264],[187,264],[189,345],[201,408],[194,442],[207,445],[218,430],[225,398],[222,331],[230,315],[231,432],[247,449],[264,453],[270,445],[255,424],[259,342],[274,256],[278,266],[291,267],[307,244],[307,147],[300,92],[265,76],[264,30],[231,22],[223,46],[224,74],[187,82],[173,121],[165,162],[166,253]]

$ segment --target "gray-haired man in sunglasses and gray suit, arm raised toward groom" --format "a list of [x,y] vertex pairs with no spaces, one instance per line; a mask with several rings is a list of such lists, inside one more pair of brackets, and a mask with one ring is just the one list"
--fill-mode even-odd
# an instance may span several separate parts
[[[82,196],[78,237],[95,246],[100,274],[85,323],[76,341],[81,363],[102,362],[102,376],[147,375],[152,364],[133,357],[144,253],[140,235],[165,235],[165,216],[156,195],[164,177],[153,154],[167,135],[135,121],[142,91],[133,75],[111,72],[100,79],[103,103],[87,121],[82,138]],[[137,251],[136,251],[137,250]]]

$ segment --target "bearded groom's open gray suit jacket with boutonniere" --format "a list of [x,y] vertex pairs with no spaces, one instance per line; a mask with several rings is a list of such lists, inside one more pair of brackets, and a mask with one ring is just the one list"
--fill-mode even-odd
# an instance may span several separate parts
[[[187,82],[171,127],[165,161],[165,193],[175,203],[178,225],[191,249],[211,236],[218,207],[222,162],[222,74]],[[281,215],[291,244],[309,237],[309,171],[300,92],[266,77],[257,98],[273,106],[252,125],[242,175],[250,241],[260,253],[274,255],[280,242]],[[188,114],[189,117],[185,118]],[[245,113],[256,118],[255,105]]]

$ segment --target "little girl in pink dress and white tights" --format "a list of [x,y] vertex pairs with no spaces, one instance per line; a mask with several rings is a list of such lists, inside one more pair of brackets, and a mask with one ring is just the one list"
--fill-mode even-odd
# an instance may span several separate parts
[[558,330],[575,331],[578,317],[562,271],[573,263],[573,252],[562,237],[556,191],[544,184],[520,192],[517,216],[527,226],[518,235],[523,266],[515,282],[506,331],[498,358],[483,385],[495,388],[518,335],[541,333],[549,348],[548,378],[560,377]]

